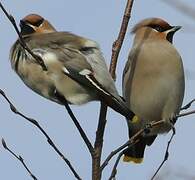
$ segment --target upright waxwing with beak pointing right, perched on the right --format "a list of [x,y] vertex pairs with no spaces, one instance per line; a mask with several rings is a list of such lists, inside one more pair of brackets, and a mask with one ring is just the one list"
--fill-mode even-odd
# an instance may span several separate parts
[[164,120],[140,141],[124,152],[124,161],[141,163],[146,145],[157,134],[166,133],[179,113],[184,96],[182,59],[172,45],[180,26],[171,26],[159,18],[141,21],[132,30],[133,47],[123,72],[123,95],[128,107],[137,115],[128,121],[129,136],[152,121]]

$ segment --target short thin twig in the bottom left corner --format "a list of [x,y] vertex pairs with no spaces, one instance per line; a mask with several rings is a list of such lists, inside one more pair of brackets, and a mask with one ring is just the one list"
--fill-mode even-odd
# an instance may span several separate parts
[[33,173],[32,173],[32,172],[30,171],[30,169],[27,167],[27,165],[26,165],[26,163],[24,162],[24,159],[22,158],[22,156],[16,155],[16,154],[7,146],[7,144],[6,144],[6,142],[5,142],[4,139],[2,139],[1,142],[2,142],[3,147],[4,147],[8,152],[10,152],[16,159],[18,159],[18,160],[22,163],[22,165],[23,165],[24,168],[27,170],[27,172],[29,173],[29,175],[30,175],[34,180],[37,180],[36,176],[33,175]]

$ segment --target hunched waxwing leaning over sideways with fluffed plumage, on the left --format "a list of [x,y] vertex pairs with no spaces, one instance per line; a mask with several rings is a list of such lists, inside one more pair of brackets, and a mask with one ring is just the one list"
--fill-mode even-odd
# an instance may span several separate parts
[[96,42],[57,32],[36,14],[24,17],[20,28],[26,45],[47,67],[44,71],[19,40],[14,43],[11,65],[29,88],[59,104],[99,100],[128,119],[134,115],[119,96]]

